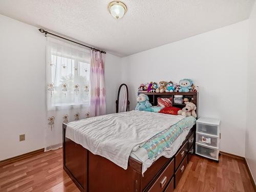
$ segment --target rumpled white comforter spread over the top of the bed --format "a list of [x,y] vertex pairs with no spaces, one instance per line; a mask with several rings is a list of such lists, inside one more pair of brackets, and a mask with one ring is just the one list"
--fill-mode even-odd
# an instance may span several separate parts
[[68,123],[66,137],[126,169],[136,145],[183,118],[143,111],[109,114]]

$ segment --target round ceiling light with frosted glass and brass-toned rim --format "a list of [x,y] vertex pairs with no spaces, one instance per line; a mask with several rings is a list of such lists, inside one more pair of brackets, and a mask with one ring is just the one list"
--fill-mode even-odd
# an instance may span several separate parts
[[108,9],[110,14],[116,19],[122,18],[127,11],[126,5],[119,1],[109,3]]

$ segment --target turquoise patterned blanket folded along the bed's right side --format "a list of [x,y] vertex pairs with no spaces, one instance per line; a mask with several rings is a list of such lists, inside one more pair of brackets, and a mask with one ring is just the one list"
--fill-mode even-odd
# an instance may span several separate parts
[[191,128],[196,124],[196,118],[193,116],[185,117],[178,123],[171,126],[169,129],[164,130],[150,140],[148,140],[143,148],[147,151],[148,157],[153,159],[160,155],[166,148],[170,147],[172,143],[179,137],[184,129]]

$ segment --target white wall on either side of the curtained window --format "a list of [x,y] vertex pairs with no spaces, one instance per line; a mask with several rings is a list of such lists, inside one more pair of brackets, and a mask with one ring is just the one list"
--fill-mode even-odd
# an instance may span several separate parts
[[[49,127],[45,101],[46,38],[36,27],[3,15],[0,26],[0,160],[3,160],[43,148],[45,129],[49,131]],[[120,61],[121,58],[106,54],[107,113],[115,112]],[[57,118],[61,120],[54,128],[61,129],[62,116],[59,114]],[[19,142],[20,134],[26,134],[25,141]]]

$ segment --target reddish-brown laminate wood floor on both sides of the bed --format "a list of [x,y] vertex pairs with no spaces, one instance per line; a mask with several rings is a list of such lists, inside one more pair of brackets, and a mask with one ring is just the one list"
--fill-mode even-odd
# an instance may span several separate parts
[[[79,191],[62,169],[62,150],[0,165],[0,191]],[[102,190],[103,191],[103,190]],[[175,192],[254,191],[243,160],[193,156]]]

